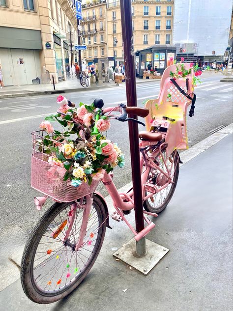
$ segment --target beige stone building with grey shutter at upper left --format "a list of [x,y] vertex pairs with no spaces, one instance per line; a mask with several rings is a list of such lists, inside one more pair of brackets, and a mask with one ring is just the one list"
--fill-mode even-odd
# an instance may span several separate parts
[[[66,80],[71,53],[66,34],[77,20],[72,0],[1,0],[0,62],[5,85]],[[75,43],[74,42],[74,43]],[[72,62],[77,59],[76,52]]]

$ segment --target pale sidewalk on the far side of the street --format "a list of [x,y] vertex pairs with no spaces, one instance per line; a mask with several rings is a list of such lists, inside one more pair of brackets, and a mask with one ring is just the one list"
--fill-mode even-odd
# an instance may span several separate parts
[[[160,80],[148,80],[148,79],[139,79],[136,78],[136,83],[145,83],[154,81],[155,84],[160,83]],[[97,84],[91,84],[87,88],[84,88],[80,81],[76,78],[70,78],[66,81],[61,81],[58,84],[55,84],[55,90],[53,84],[39,84],[39,85],[12,85],[4,86],[0,88],[0,99],[12,98],[12,97],[24,97],[24,96],[37,96],[37,95],[46,95],[46,94],[57,94],[57,93],[69,93],[69,92],[82,92],[97,90],[99,88],[108,88],[116,86],[112,81],[110,83],[104,83],[99,80]]]

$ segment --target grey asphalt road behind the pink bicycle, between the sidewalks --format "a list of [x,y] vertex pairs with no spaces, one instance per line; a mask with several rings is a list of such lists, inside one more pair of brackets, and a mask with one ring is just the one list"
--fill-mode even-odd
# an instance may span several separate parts
[[[190,146],[211,135],[215,128],[233,122],[232,84],[220,83],[220,78],[219,74],[214,73],[204,75],[203,84],[195,89],[195,116],[187,117]],[[159,87],[159,82],[154,80],[138,83],[138,106],[143,107],[146,99],[156,98]],[[75,103],[87,104],[101,97],[106,107],[126,102],[124,85],[65,96]],[[0,100],[0,290],[18,276],[17,268],[7,258],[21,252],[29,230],[43,213],[35,210],[33,197],[38,193],[30,188],[30,133],[38,129],[45,115],[56,112],[56,97],[42,95]],[[114,173],[114,181],[120,188],[131,180],[127,123],[113,121],[108,138],[117,142],[126,155],[125,168],[116,169]],[[99,190],[107,195],[102,185]]]

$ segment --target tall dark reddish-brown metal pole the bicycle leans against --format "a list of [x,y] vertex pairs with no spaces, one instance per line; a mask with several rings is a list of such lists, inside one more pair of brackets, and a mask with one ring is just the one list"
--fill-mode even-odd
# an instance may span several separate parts
[[[121,13],[121,28],[124,46],[127,106],[137,106],[131,0],[120,0],[120,13]],[[130,114],[129,117],[137,119],[137,116],[134,114]],[[142,181],[140,170],[138,124],[133,121],[129,121],[129,141],[130,141],[131,168],[132,168],[132,180],[134,190],[136,231],[140,232],[144,229]],[[146,254],[145,237],[142,238],[139,242],[136,242],[136,252],[139,256],[143,256]]]

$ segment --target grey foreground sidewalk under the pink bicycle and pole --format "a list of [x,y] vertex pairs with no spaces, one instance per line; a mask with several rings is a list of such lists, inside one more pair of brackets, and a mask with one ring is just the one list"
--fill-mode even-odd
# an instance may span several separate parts
[[[1,310],[232,311],[231,128],[216,133],[221,141],[208,149],[198,145],[194,153],[199,155],[180,168],[174,197],[147,235],[170,252],[146,277],[114,259],[132,233],[110,220],[113,230],[107,229],[101,252],[77,290],[55,304],[37,305],[18,280],[0,292]],[[133,213],[128,220],[134,223]]]

